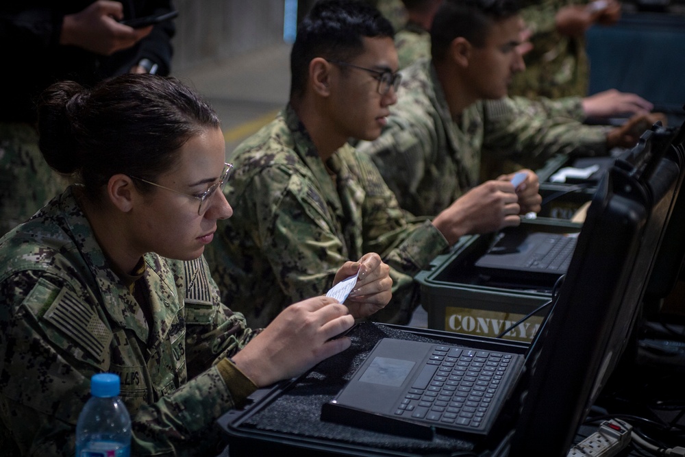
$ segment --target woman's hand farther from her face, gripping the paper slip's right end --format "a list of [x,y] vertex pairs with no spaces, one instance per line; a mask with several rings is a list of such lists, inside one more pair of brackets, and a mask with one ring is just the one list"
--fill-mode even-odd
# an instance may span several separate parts
[[375,253],[364,254],[358,262],[345,262],[340,267],[333,284],[357,274],[357,284],[349,294],[345,304],[355,319],[371,316],[384,308],[393,297],[393,279],[390,267]]

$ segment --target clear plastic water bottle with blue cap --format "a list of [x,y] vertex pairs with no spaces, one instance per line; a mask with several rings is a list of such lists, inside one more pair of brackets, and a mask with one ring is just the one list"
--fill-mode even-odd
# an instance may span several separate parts
[[90,378],[90,399],[76,425],[76,457],[129,457],[131,417],[119,398],[119,376]]

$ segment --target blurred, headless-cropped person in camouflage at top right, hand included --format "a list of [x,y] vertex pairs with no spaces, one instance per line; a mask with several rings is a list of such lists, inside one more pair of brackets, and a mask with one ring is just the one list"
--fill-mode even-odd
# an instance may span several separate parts
[[613,24],[620,15],[616,0],[525,1],[521,17],[532,32],[533,49],[525,55],[527,70],[514,77],[510,93],[530,98],[587,95],[586,29]]

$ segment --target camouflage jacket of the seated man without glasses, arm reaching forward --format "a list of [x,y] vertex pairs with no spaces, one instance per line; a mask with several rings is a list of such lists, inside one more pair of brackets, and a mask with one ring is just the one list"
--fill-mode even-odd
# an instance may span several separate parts
[[412,214],[438,214],[479,182],[511,171],[506,160],[538,169],[556,153],[606,153],[603,127],[582,125],[553,104],[478,101],[453,120],[429,60],[403,70],[397,98],[381,136],[357,147]]

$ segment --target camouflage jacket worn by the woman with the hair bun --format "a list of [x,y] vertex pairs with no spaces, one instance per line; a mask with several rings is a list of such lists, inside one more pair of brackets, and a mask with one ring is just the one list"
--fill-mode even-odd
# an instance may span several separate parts
[[151,325],[71,188],[0,240],[0,416],[21,454],[73,456],[90,377],[107,371],[121,378],[132,455],[215,455],[214,421],[255,388],[226,357],[255,332],[202,258],[144,260],[133,284]]

